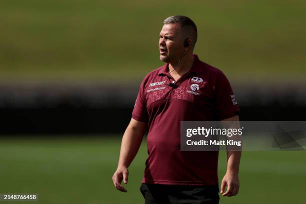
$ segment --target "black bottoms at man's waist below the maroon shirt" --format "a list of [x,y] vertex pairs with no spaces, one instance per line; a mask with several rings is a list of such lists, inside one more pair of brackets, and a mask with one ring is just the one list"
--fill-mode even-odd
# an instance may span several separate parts
[[145,204],[219,203],[218,186],[162,185],[142,183]]

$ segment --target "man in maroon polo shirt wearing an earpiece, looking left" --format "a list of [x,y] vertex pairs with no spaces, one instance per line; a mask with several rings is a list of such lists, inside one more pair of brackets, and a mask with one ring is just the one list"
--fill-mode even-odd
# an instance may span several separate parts
[[[238,120],[239,108],[225,75],[200,61],[193,49],[194,22],[181,15],[164,20],[159,37],[163,66],[140,84],[121,142],[115,187],[126,189],[128,166],[148,128],[148,157],[140,187],[145,203],[218,203],[217,151],[180,151],[180,121]],[[240,151],[227,151],[223,196],[237,194]],[[224,191],[227,186],[226,191]]]

